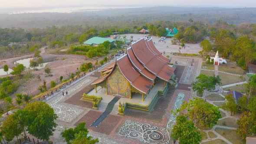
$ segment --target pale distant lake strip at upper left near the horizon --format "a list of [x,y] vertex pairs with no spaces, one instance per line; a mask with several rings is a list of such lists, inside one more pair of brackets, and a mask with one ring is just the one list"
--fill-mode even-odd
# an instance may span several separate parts
[[13,11],[11,14],[18,13],[73,13],[83,11],[100,11],[107,9],[125,9],[125,8],[139,8],[139,7],[62,7],[62,8],[49,8],[40,10],[20,10]]

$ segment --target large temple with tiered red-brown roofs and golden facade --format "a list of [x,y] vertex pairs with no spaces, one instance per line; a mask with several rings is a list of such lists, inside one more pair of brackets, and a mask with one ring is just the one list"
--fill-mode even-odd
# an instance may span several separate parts
[[88,95],[103,99],[115,96],[133,105],[153,105],[158,95],[165,96],[168,87],[177,82],[175,69],[168,65],[169,62],[170,59],[156,49],[152,39],[139,39],[126,49],[124,56],[98,71],[102,76],[92,82],[94,89]]

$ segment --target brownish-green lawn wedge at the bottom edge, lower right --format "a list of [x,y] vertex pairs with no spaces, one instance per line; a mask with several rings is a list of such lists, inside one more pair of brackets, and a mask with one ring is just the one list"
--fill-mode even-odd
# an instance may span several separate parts
[[229,130],[225,128],[215,128],[215,131],[217,131],[217,133],[225,137],[233,144],[245,144],[245,142],[242,141],[240,135],[237,135],[236,131],[234,130]]

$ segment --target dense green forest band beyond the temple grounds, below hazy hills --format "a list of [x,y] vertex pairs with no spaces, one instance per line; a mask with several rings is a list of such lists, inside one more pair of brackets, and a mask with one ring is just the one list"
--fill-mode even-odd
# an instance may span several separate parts
[[201,54],[219,50],[224,58],[236,61],[243,69],[246,69],[249,63],[256,63],[256,24],[241,23],[236,26],[223,20],[210,24],[194,21],[192,18],[175,23],[142,20],[120,23],[0,29],[0,59],[32,53],[41,46],[59,47],[83,43],[93,36],[105,37],[113,32],[138,33],[144,28],[149,29],[149,35],[165,36],[166,27],[176,27],[179,31],[175,37],[184,43],[200,43],[206,36],[210,37],[211,41],[204,41],[201,44],[203,47]]

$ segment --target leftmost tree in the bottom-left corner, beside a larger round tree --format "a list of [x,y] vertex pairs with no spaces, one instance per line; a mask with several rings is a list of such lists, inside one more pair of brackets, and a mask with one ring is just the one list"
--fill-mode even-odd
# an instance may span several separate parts
[[18,136],[22,133],[23,127],[20,126],[19,121],[16,119],[15,115],[9,115],[5,121],[3,121],[3,134],[7,141],[13,140],[13,137]]

